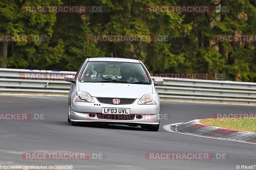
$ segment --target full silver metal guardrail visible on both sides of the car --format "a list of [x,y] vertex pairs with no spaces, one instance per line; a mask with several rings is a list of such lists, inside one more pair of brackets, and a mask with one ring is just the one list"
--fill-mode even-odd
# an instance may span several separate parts
[[[63,79],[70,74],[76,72],[0,68],[0,92],[68,94],[70,83]],[[156,86],[161,99],[256,104],[256,83],[163,79],[164,85]]]

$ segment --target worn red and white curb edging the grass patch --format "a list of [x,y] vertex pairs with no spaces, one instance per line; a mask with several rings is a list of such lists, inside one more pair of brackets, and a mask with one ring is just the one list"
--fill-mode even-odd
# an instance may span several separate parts
[[[254,132],[244,132],[208,126],[206,124],[199,123],[200,120],[201,119],[196,119],[185,123],[164,125],[163,128],[170,132],[183,133],[187,135],[256,144],[256,133]],[[175,127],[175,131],[171,129],[173,126]]]

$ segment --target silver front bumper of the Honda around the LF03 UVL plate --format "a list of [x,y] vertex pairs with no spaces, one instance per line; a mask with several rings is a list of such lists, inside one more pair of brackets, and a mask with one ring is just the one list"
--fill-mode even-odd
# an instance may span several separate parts
[[[94,103],[74,102],[74,104],[71,104],[71,111],[69,112],[71,122],[92,122],[95,124],[105,123],[127,125],[159,124],[159,104],[139,105],[138,101],[140,99],[136,99],[134,103],[128,105],[104,104],[100,103],[95,97],[93,97],[93,100],[95,101]],[[102,107],[130,108],[130,115],[102,115]],[[96,114],[96,116],[91,117],[91,113]],[[138,118],[136,117],[136,115],[142,115],[142,118]]]

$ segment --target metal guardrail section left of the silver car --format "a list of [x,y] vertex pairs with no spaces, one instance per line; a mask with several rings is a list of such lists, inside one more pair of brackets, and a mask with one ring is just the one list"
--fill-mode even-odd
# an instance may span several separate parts
[[76,72],[0,68],[0,92],[68,94],[64,76],[71,74]]

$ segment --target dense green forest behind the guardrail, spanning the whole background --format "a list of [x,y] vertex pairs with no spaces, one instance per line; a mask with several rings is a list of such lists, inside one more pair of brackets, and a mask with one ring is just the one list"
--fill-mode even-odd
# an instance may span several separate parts
[[[24,6],[104,10],[27,12]],[[227,10],[152,12],[148,6]],[[150,73],[226,74],[226,80],[256,82],[256,40],[216,41],[219,35],[256,35],[255,0],[0,0],[0,35],[44,39],[0,40],[1,68],[76,71],[86,58],[113,52],[114,57],[141,60]],[[150,35],[156,41],[91,41],[91,35]]]

